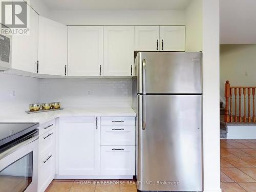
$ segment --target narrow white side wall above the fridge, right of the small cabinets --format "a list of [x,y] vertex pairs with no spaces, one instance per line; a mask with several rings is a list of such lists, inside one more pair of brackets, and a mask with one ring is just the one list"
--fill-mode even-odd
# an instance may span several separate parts
[[185,10],[186,51],[203,49],[203,0],[193,0]]

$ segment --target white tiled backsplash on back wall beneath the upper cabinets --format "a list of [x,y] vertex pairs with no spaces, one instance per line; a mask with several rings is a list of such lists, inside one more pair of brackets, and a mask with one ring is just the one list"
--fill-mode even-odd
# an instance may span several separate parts
[[[90,92],[90,95],[89,93]],[[40,102],[63,107],[132,106],[131,79],[40,79]]]

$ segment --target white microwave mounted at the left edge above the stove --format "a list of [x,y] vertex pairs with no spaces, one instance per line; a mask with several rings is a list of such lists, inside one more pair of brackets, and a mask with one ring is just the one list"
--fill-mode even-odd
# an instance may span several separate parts
[[0,71],[11,69],[12,37],[0,34]]

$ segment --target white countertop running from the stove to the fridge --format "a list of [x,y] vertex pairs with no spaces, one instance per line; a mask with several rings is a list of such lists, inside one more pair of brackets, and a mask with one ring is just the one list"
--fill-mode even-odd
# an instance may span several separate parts
[[64,108],[59,111],[27,114],[25,111],[1,114],[0,122],[39,122],[45,123],[58,117],[136,117],[131,107],[90,107],[90,108]]

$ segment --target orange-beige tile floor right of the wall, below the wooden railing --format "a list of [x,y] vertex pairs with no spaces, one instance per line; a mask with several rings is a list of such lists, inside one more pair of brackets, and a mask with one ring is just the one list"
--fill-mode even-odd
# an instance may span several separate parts
[[220,142],[222,192],[256,192],[256,140]]

